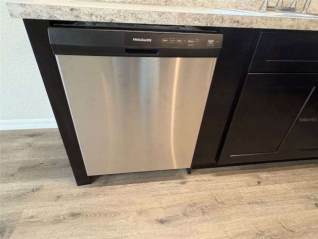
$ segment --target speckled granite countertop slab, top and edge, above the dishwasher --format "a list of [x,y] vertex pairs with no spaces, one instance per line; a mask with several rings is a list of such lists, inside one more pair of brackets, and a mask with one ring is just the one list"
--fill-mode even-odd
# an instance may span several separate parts
[[318,18],[253,15],[202,6],[105,0],[26,0],[8,1],[6,5],[14,18],[318,30]]

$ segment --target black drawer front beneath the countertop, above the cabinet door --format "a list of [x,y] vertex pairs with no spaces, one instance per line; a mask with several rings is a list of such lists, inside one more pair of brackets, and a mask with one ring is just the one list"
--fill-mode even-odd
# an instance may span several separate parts
[[318,72],[318,33],[262,32],[249,72]]

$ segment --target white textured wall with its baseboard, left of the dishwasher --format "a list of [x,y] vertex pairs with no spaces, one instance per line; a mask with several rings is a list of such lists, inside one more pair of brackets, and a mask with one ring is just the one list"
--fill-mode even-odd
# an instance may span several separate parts
[[22,19],[0,0],[1,129],[56,127]]

